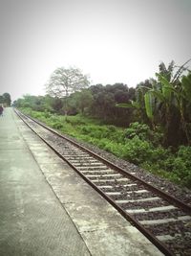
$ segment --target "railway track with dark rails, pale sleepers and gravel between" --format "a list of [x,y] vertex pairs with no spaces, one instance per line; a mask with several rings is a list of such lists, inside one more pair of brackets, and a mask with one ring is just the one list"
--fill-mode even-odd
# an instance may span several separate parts
[[52,128],[17,115],[165,255],[191,255],[191,206],[134,173],[74,143]]

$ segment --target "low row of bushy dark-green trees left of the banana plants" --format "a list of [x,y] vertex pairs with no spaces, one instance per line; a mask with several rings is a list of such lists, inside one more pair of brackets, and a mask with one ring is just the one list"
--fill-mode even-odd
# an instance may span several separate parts
[[126,84],[96,84],[81,89],[68,97],[24,95],[13,103],[16,107],[30,107],[35,111],[47,111],[59,115],[92,116],[105,124],[126,127],[133,122],[133,109],[118,108],[116,104],[135,100],[136,89]]

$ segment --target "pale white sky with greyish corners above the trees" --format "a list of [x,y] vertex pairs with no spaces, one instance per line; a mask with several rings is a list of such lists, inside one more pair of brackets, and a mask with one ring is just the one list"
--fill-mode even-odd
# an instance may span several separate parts
[[136,86],[191,58],[191,0],[0,0],[0,94],[44,95],[57,67]]

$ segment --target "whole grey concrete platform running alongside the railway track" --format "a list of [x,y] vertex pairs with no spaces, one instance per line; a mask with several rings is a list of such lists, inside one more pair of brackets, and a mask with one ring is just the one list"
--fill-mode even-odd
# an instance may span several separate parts
[[0,118],[0,255],[163,255],[13,112]]

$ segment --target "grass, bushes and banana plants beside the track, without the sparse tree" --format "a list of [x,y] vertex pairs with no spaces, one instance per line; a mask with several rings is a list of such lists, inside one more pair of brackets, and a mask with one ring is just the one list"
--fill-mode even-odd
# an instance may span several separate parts
[[184,65],[176,68],[173,61],[168,67],[160,63],[156,79],[136,88],[96,84],[63,98],[26,95],[14,105],[53,128],[191,188],[191,73]]

